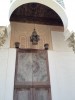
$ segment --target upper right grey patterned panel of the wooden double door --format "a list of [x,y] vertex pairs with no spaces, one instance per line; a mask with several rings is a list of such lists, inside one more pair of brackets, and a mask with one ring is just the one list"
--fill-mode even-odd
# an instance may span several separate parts
[[32,77],[33,82],[47,82],[47,62],[46,62],[46,52],[37,52],[32,54]]

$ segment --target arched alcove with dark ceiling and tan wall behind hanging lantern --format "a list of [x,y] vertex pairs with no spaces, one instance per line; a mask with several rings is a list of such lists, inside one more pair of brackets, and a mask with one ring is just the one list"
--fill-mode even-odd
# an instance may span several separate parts
[[[11,47],[14,47],[15,42],[20,42],[22,48],[43,49],[44,44],[48,43],[49,49],[52,49],[51,31],[64,31],[64,24],[60,16],[50,7],[40,3],[20,5],[11,14],[10,21],[11,26],[14,24],[11,32],[14,34],[11,39]],[[15,23],[13,23],[14,21]],[[41,37],[37,46],[33,46],[29,41],[34,24]],[[13,40],[14,42],[12,42]]]

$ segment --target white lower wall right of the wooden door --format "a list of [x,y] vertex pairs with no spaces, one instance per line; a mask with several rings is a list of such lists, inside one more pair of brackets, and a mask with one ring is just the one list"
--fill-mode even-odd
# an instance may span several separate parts
[[48,51],[52,100],[75,100],[75,54]]

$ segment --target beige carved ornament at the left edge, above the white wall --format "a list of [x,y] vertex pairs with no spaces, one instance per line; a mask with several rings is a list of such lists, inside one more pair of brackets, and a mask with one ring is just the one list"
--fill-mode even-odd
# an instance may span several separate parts
[[6,28],[4,26],[0,27],[0,47],[4,45],[5,41],[6,41]]

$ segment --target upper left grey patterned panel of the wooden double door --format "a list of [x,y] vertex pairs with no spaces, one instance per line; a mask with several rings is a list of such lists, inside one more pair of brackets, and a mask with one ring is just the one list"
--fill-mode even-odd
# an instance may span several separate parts
[[32,82],[32,53],[18,53],[17,82]]

